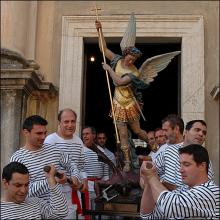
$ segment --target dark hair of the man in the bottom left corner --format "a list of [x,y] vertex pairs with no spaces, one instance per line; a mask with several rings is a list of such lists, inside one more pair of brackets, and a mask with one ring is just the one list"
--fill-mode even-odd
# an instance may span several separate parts
[[27,167],[19,162],[11,162],[3,168],[2,179],[9,182],[13,173],[29,174]]

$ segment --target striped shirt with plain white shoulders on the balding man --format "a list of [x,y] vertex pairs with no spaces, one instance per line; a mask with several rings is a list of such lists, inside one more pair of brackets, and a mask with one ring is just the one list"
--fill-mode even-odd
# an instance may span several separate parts
[[82,140],[73,134],[71,139],[63,139],[57,133],[48,135],[44,143],[56,146],[57,149],[69,155],[71,160],[76,164],[80,176],[86,178],[85,172],[85,154]]

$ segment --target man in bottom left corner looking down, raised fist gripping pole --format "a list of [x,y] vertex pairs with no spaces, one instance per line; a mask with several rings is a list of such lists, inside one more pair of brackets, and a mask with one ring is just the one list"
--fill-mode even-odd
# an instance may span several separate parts
[[67,201],[54,177],[56,169],[51,166],[45,173],[50,190],[49,202],[37,198],[26,198],[29,172],[25,165],[11,162],[3,168],[1,219],[61,219],[68,213]]

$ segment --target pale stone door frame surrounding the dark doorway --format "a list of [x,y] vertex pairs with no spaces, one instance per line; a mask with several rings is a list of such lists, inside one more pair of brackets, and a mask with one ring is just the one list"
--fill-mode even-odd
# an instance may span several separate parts
[[[200,15],[135,15],[137,37],[181,38],[181,112],[204,119],[204,26]],[[102,16],[105,37],[122,37],[129,15]],[[63,16],[59,108],[73,108],[81,130],[83,39],[97,38],[93,16]]]

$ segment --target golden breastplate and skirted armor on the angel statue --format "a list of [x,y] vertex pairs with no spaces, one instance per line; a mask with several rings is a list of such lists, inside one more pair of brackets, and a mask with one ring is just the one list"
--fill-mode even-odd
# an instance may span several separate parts
[[[123,68],[121,60],[119,60],[116,64],[115,73],[120,77],[127,73],[132,73],[136,77],[139,77],[140,75],[135,66],[130,67],[129,69]],[[135,96],[131,83],[125,86],[115,86],[113,109],[115,113],[115,120],[117,122],[131,122],[139,120],[140,112],[135,102]]]

